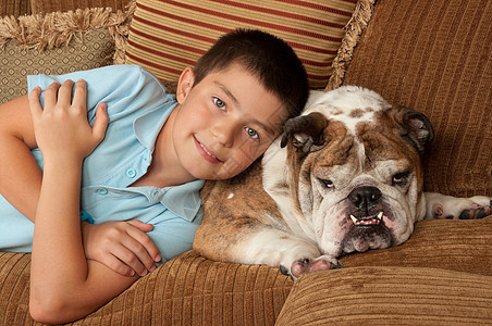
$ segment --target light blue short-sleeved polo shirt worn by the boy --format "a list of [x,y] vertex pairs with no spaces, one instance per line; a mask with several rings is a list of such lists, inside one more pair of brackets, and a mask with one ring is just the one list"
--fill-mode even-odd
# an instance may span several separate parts
[[[107,104],[109,115],[104,140],[84,160],[81,210],[95,224],[139,220],[153,225],[148,235],[163,261],[192,249],[201,221],[199,191],[204,180],[175,187],[128,187],[150,165],[156,138],[172,110],[173,95],[137,65],[112,65],[62,76],[28,77],[29,92],[66,79],[87,82],[87,117],[94,124],[96,108]],[[44,92],[41,95],[44,103]],[[39,149],[32,151],[39,166]],[[60,173],[63,173],[61,171]],[[29,252],[34,224],[0,197],[0,251]]]

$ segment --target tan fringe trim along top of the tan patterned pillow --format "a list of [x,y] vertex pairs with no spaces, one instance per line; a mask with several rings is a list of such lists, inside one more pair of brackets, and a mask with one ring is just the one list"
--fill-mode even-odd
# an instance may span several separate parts
[[123,63],[134,11],[132,1],[124,12],[113,12],[111,8],[90,8],[45,15],[1,17],[0,47],[14,40],[20,47],[44,51],[67,46],[72,40],[83,42],[84,35],[90,30],[107,28],[115,42],[114,63]]

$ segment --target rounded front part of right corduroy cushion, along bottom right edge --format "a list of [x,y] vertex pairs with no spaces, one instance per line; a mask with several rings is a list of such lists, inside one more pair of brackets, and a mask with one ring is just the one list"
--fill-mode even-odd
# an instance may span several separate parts
[[275,325],[488,325],[492,277],[423,267],[357,267],[295,283]]

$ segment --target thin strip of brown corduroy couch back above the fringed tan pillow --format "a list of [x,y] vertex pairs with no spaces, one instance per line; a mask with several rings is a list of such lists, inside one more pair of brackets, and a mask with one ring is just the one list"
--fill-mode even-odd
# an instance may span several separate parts
[[75,11],[86,8],[111,8],[114,11],[125,10],[125,5],[130,0],[30,0],[33,14],[47,14],[50,12]]

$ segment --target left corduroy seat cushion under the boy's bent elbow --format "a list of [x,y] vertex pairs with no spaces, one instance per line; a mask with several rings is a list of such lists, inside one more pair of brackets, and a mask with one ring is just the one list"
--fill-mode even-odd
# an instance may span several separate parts
[[[29,261],[30,254],[0,252],[0,325],[34,323]],[[73,325],[273,325],[291,287],[276,268],[212,262],[187,252]]]

